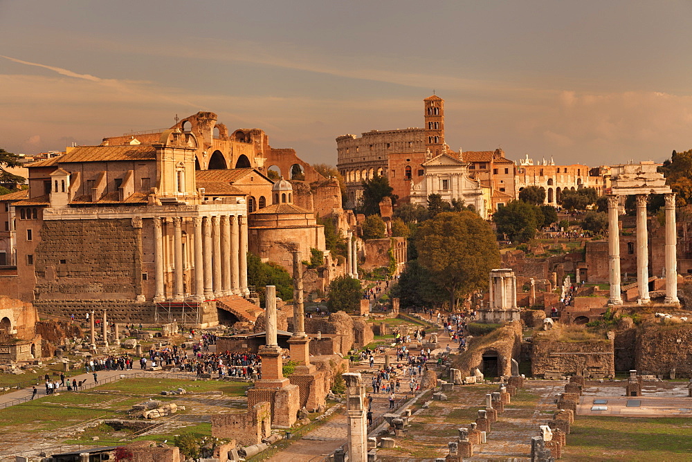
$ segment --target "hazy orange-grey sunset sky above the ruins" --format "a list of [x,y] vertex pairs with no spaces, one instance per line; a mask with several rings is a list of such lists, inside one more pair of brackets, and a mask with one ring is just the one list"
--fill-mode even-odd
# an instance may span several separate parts
[[692,1],[0,0],[0,147],[37,154],[212,111],[336,165],[337,136],[605,165],[692,149]]

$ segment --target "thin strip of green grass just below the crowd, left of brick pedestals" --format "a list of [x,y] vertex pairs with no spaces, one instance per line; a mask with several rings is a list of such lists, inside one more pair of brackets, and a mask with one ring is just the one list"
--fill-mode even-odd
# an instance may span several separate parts
[[245,396],[248,388],[246,382],[224,382],[220,380],[176,380],[155,378],[131,378],[107,383],[98,387],[99,390],[118,390],[122,393],[138,396],[158,395],[163,390],[183,388],[186,391],[200,393],[202,391],[222,391],[226,396]]

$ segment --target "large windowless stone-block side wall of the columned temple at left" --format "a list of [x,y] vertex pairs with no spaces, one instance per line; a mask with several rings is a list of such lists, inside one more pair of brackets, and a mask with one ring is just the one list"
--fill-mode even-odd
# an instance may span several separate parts
[[136,299],[141,247],[141,228],[131,219],[44,221],[35,250],[35,297]]

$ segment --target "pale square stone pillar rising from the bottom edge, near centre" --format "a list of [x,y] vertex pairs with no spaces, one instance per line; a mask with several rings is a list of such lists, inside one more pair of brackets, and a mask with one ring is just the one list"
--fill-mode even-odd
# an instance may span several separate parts
[[347,445],[349,462],[367,462],[367,405],[360,373],[343,374],[346,382]]

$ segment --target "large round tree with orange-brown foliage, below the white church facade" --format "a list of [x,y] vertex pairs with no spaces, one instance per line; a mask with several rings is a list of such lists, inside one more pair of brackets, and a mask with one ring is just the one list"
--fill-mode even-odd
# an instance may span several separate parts
[[450,308],[458,297],[487,285],[500,264],[495,233],[473,212],[443,212],[422,223],[416,234],[419,262],[448,293]]

